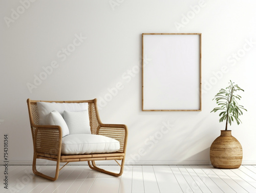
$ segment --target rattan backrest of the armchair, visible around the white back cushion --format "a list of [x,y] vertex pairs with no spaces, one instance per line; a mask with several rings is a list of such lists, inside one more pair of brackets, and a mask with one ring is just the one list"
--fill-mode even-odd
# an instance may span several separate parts
[[78,100],[78,101],[43,101],[43,100],[27,100],[28,103],[28,110],[29,110],[29,120],[31,126],[32,137],[34,139],[34,132],[36,125],[39,125],[39,116],[37,111],[37,104],[36,102],[58,102],[58,103],[81,103],[81,102],[88,102],[88,112],[90,118],[90,126],[92,134],[97,133],[97,128],[100,123],[100,118],[98,115],[97,110],[97,99],[93,100]]

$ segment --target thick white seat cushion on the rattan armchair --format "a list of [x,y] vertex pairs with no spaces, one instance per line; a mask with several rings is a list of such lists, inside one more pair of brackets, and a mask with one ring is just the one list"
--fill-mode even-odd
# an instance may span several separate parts
[[119,141],[110,137],[92,134],[73,134],[62,138],[61,154],[100,154],[117,152]]

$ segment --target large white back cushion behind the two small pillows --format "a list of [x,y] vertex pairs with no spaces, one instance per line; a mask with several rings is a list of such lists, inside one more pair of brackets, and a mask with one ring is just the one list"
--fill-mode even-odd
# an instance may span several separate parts
[[64,111],[84,111],[88,110],[88,102],[81,103],[56,103],[56,102],[36,102],[39,124],[46,124],[46,116],[52,111],[57,111],[63,117]]

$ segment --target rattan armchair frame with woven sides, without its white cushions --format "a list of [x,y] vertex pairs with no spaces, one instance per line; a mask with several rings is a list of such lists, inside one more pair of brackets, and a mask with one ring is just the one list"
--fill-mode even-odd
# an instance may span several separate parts
[[[103,154],[83,154],[83,155],[62,155],[61,154],[61,127],[58,125],[39,125],[39,117],[37,110],[37,103],[40,100],[27,100],[29,119],[31,125],[31,132],[34,146],[33,156],[33,173],[43,178],[55,181],[58,178],[60,162],[79,162],[88,161],[91,169],[109,174],[115,177],[121,176],[123,173],[124,159],[127,143],[127,127],[124,124],[103,124],[100,121],[97,110],[97,99],[81,100],[81,101],[41,101],[41,102],[57,102],[57,103],[81,103],[88,102],[88,112],[90,118],[91,133],[94,135],[103,135],[116,139],[120,143],[120,149],[114,153]],[[36,169],[36,159],[46,159],[56,161],[55,177],[50,177],[45,174],[39,173]],[[120,166],[119,173],[113,173],[101,169],[96,166],[96,160],[115,160]],[[117,160],[120,160],[119,163]],[[66,165],[65,164],[65,165]],[[65,166],[64,165],[64,166]],[[63,167],[64,167],[63,166]]]

